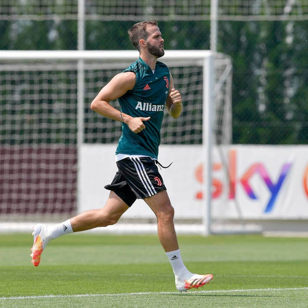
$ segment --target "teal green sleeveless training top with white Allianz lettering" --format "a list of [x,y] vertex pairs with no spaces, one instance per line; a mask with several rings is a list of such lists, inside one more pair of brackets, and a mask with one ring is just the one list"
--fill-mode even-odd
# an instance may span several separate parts
[[169,91],[170,73],[168,67],[156,62],[154,74],[141,58],[123,72],[134,72],[136,84],[132,90],[119,97],[121,111],[132,117],[148,117],[145,129],[132,132],[122,124],[122,135],[115,154],[144,155],[157,159],[160,144],[160,128]]

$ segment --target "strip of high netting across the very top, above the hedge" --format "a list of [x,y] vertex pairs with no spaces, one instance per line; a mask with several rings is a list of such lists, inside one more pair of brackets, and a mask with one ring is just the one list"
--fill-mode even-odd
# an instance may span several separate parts
[[3,0],[0,19],[48,20],[77,19],[78,3],[84,3],[86,20],[209,20],[211,5],[217,3],[221,20],[305,19],[308,4],[304,0],[235,0],[235,1],[31,1]]

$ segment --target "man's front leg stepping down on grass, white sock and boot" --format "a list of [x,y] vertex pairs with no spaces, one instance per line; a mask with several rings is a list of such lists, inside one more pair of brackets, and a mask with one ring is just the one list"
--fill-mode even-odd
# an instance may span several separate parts
[[152,197],[145,198],[144,201],[157,217],[158,237],[172,266],[176,289],[187,291],[208,284],[213,279],[212,274],[193,274],[182,261],[173,223],[174,209],[167,191],[163,190]]

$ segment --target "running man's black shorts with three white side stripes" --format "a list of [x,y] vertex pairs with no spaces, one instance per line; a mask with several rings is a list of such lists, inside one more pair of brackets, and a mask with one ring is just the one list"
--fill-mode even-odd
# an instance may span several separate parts
[[155,161],[150,157],[128,157],[118,160],[116,164],[119,171],[105,188],[112,190],[128,206],[137,198],[144,199],[166,190]]

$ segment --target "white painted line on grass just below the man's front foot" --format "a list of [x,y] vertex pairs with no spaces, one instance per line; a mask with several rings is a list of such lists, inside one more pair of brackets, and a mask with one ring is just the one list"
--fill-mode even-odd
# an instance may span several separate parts
[[[267,289],[238,289],[238,290],[202,290],[190,291],[191,293],[236,293],[236,292],[252,292],[252,291],[286,291],[286,290],[308,290],[308,287],[302,288],[267,288]],[[37,298],[79,298],[79,297],[103,297],[103,296],[126,296],[126,295],[154,295],[154,294],[180,294],[179,292],[134,292],[134,293],[107,293],[107,294],[71,294],[71,295],[33,295],[33,296],[12,296],[0,297],[0,299],[37,299]],[[183,294],[188,294],[184,292]]]

